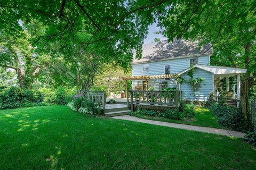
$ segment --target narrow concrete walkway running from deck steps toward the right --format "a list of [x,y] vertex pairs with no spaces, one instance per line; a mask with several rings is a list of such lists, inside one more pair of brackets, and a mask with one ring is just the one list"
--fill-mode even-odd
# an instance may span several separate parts
[[130,116],[130,115],[115,116],[115,117],[112,117],[112,118],[120,119],[120,120],[127,120],[127,121],[154,124],[154,125],[159,125],[159,126],[167,126],[167,127],[170,127],[170,128],[185,129],[185,130],[189,130],[189,131],[214,133],[214,134],[226,135],[228,137],[243,138],[244,135],[245,135],[245,133],[237,132],[237,131],[230,131],[230,130],[217,129],[217,128],[206,128],[206,127],[193,126],[193,125],[187,125],[187,124],[152,121],[152,120],[138,118],[138,117]]

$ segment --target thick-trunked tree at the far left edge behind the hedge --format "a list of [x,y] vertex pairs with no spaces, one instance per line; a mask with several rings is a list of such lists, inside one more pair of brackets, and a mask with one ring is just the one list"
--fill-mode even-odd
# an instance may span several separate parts
[[0,31],[0,67],[13,69],[17,73],[20,87],[31,88],[44,67],[46,57],[39,57],[29,44],[29,33],[22,31],[19,38]]

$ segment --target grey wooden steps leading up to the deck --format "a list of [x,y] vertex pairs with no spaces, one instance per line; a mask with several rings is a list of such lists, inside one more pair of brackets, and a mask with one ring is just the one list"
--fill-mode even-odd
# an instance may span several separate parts
[[124,104],[107,104],[105,107],[104,114],[107,117],[113,116],[121,116],[128,115],[130,111],[130,107],[127,107]]

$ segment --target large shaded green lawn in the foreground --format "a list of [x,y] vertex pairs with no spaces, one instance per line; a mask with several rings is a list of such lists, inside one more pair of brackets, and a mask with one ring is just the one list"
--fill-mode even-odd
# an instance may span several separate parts
[[0,111],[0,169],[255,169],[243,139],[83,115]]

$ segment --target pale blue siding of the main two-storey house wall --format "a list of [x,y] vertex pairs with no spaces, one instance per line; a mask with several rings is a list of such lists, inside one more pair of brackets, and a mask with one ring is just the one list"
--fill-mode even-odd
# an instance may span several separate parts
[[[210,65],[209,55],[199,56],[199,57],[175,58],[171,60],[154,61],[154,62],[143,62],[143,63],[132,65],[132,75],[136,76],[136,75],[165,74],[165,65],[170,65],[171,74],[179,73],[189,67],[191,58],[198,58],[198,64]],[[143,64],[145,63],[149,64],[148,71],[143,71]],[[167,82],[168,87],[175,87],[174,79],[170,79],[170,80],[154,79],[154,80],[149,80],[148,83],[150,87],[154,87],[154,90],[160,90],[159,83],[163,81]],[[134,87],[138,86],[138,84],[142,84],[142,80],[133,80],[132,89],[134,90]]]

